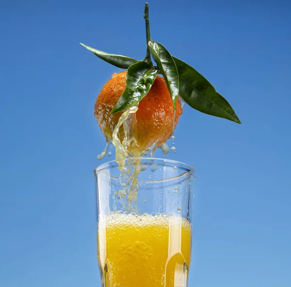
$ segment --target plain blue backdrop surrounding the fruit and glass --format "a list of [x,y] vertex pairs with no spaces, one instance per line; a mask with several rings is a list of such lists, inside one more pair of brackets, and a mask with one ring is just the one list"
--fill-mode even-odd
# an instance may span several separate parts
[[[290,287],[291,4],[149,4],[152,38],[242,121],[186,107],[166,156],[196,170],[190,287]],[[143,59],[143,11],[144,0],[0,1],[1,287],[100,286],[93,106],[119,70],[79,42]]]

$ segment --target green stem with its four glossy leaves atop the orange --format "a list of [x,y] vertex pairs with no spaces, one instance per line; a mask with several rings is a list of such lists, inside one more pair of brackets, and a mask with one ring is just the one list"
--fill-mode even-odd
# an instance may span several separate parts
[[[161,73],[170,92],[174,109],[180,96],[190,107],[216,117],[241,124],[240,119],[227,100],[193,67],[172,56],[169,51],[150,37],[148,4],[145,6],[146,57],[142,61],[102,52],[81,44],[100,59],[118,68],[128,69],[126,89],[111,113],[121,112],[139,103],[151,89],[157,75]],[[156,62],[154,66],[151,56]]]

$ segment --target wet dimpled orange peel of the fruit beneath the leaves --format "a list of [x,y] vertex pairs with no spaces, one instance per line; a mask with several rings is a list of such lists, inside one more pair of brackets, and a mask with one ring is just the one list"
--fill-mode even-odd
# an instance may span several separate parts
[[[94,115],[107,142],[112,140],[113,129],[124,112],[110,114],[126,88],[126,75],[127,71],[113,74],[112,79],[103,86],[95,102]],[[182,106],[178,98],[174,127],[181,114]],[[162,77],[157,76],[148,94],[140,101],[138,111],[131,115],[129,138],[134,137],[137,146],[130,146],[129,149],[141,155],[153,144],[159,146],[165,143],[173,133],[173,116],[173,102],[166,82]],[[123,126],[119,129],[119,138],[122,142]]]

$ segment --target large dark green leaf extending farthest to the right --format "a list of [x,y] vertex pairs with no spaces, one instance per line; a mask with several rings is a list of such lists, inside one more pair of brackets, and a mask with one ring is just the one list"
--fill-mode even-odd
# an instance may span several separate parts
[[199,112],[225,118],[241,124],[226,99],[193,67],[173,57],[179,74],[179,95]]

